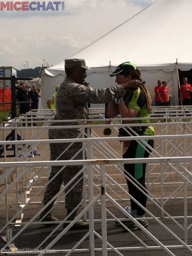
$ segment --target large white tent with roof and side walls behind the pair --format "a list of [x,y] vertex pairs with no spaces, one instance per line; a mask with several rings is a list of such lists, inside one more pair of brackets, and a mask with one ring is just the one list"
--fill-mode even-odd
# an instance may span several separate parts
[[[85,59],[91,67],[87,81],[97,88],[114,85],[115,79],[109,73],[120,63],[132,61],[142,70],[142,78],[152,95],[157,80],[168,81],[171,104],[177,105],[178,68],[192,69],[191,10],[192,0],[156,0],[71,58]],[[55,85],[64,79],[64,61],[45,73],[47,101]]]

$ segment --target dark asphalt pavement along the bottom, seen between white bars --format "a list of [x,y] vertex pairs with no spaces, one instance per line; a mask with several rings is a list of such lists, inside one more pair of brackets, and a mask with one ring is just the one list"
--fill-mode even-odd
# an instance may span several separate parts
[[[148,231],[151,232],[159,241],[164,245],[175,245],[176,239],[166,232],[155,220],[149,220]],[[171,220],[162,220],[162,222],[170,228],[176,235],[180,236],[180,238],[184,239],[184,233],[180,232],[179,228],[173,223]],[[183,221],[178,221],[181,225],[183,225]],[[2,221],[1,221],[2,224]],[[50,232],[54,230],[55,226],[45,226],[45,225],[31,225],[24,232],[22,232],[14,241],[14,246],[19,250],[24,248],[29,248],[29,250],[34,250],[40,244]],[[134,237],[130,232],[123,231],[120,226],[116,226],[114,221],[110,221],[107,224],[108,228],[108,242],[112,244],[114,247],[127,247],[127,246],[142,246],[142,244]],[[21,227],[13,228],[13,235],[16,234]],[[62,227],[56,233],[51,236],[42,248],[45,248],[61,231]],[[98,234],[101,235],[101,223],[96,222],[95,230]],[[83,238],[83,236],[88,232],[88,230],[75,230],[68,231],[65,235],[63,235],[60,240],[53,245],[52,249],[54,250],[63,250],[63,249],[72,249],[72,247]],[[156,246],[157,244],[149,238],[143,231],[135,231],[134,234],[141,239],[147,246]],[[2,234],[1,234],[2,235]],[[192,244],[192,229],[188,233],[189,243]],[[2,248],[4,242],[0,239],[0,247]],[[101,248],[102,242],[99,238],[95,236],[95,247]],[[78,249],[88,248],[89,247],[89,238],[85,239],[85,241],[78,247]],[[120,250],[123,256],[166,256],[168,255],[163,250],[142,250],[142,251],[123,251]],[[171,250],[171,252],[175,256],[190,256],[191,252],[187,249],[180,250]],[[26,254],[28,255],[28,254]],[[59,252],[49,253],[45,255],[61,255]],[[65,253],[62,255],[65,255]],[[73,255],[78,256],[90,256],[89,253],[72,253]],[[101,256],[101,252],[96,252],[95,256]],[[116,256],[118,255],[116,252],[108,252],[108,256]]]

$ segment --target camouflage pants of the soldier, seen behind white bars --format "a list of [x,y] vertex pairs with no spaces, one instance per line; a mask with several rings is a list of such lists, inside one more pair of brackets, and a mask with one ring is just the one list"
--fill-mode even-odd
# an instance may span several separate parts
[[[49,139],[58,139],[58,136],[52,132],[54,130],[49,130]],[[58,130],[57,130],[58,131]],[[64,135],[66,138],[67,134]],[[61,137],[60,137],[61,138]],[[63,138],[63,136],[62,136]],[[50,159],[55,160],[60,156],[60,154],[69,146],[69,143],[50,143]],[[70,160],[80,149],[82,148],[82,143],[74,143],[58,160]],[[81,151],[75,158],[83,159],[83,152]],[[52,166],[49,180],[60,171],[62,166]],[[83,166],[66,166],[46,187],[43,202],[45,204],[50,201],[54,195],[60,191],[60,186],[64,183],[64,186],[72,180],[72,178],[79,172]],[[83,174],[80,174],[74,182],[72,182],[66,189],[65,193],[76,183],[80,178],[82,178],[74,188],[65,197],[65,208],[70,212],[76,207],[82,200],[83,192]]]

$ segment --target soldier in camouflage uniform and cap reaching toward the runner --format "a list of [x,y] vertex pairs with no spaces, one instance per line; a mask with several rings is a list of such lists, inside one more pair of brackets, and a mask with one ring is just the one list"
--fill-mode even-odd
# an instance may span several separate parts
[[[55,120],[57,123],[53,123],[53,126],[59,125],[80,125],[86,124],[86,122],[59,122],[60,120],[78,120],[87,119],[88,107],[87,103],[106,103],[114,98],[121,97],[125,88],[125,85],[115,85],[109,88],[94,89],[85,86],[86,70],[89,69],[85,65],[83,59],[69,59],[65,60],[65,73],[66,78],[60,85],[57,93],[57,114]],[[134,80],[133,84],[140,84],[138,80]],[[50,129],[48,132],[49,139],[69,139],[77,138],[81,134],[81,129]],[[50,159],[51,160],[70,160],[79,150],[80,152],[73,159],[83,159],[83,152],[81,150],[82,143],[73,143],[67,151],[62,152],[70,145],[70,143],[50,143]],[[61,155],[61,156],[60,156]],[[60,156],[60,157],[59,157]],[[58,158],[59,157],[59,158]],[[60,166],[52,166],[49,180],[60,171]],[[82,166],[66,166],[55,179],[48,184],[43,202],[46,205],[54,195],[60,191],[62,182],[66,185],[71,179],[82,169]],[[81,179],[74,188],[65,197],[65,207],[67,209],[67,215],[81,202],[83,191],[83,173],[65,189],[65,193]],[[53,204],[52,204],[53,205]],[[40,219],[43,218],[45,213],[52,207],[47,207],[42,212]],[[72,214],[71,219],[76,216],[76,211]],[[51,213],[49,213],[43,221],[55,220]]]

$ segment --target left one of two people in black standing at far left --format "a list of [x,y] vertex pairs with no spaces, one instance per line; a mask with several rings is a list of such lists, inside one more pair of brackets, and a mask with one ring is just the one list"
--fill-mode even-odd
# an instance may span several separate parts
[[26,103],[19,103],[19,113],[25,114],[26,112],[31,110],[31,106],[29,101],[31,101],[31,98],[29,96],[29,92],[27,91],[27,85],[25,83],[20,84],[21,89],[17,92],[16,101],[17,102],[23,102],[26,101]]

